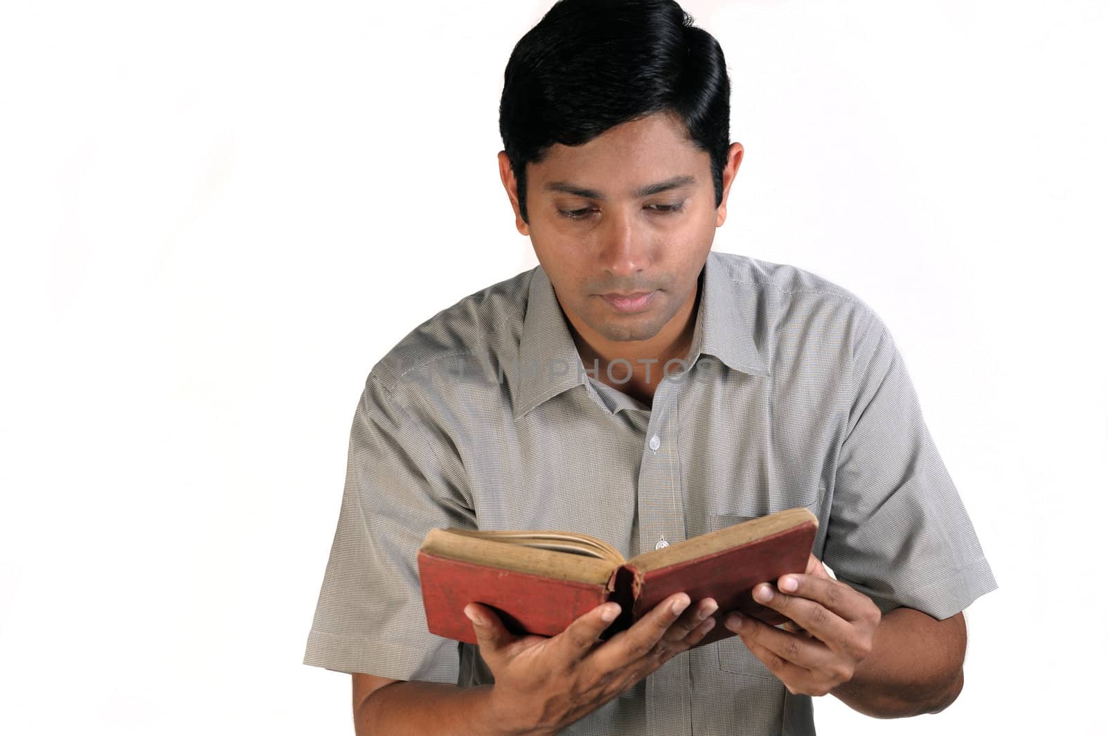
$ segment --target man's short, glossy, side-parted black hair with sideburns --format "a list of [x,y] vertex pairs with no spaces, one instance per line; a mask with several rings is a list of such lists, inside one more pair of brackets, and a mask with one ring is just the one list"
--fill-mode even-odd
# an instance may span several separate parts
[[500,135],[527,222],[526,164],[554,143],[667,112],[711,159],[716,206],[727,164],[730,80],[724,50],[674,0],[558,0],[512,50]]

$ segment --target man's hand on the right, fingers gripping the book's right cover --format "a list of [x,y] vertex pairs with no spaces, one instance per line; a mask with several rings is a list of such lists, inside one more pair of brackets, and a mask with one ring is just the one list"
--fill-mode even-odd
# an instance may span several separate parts
[[809,554],[803,574],[781,575],[777,590],[759,583],[752,592],[756,602],[788,616],[796,626],[782,631],[746,615],[736,622],[738,612],[727,616],[725,625],[793,695],[827,695],[854,676],[872,648],[881,610],[869,596],[831,577],[815,555]]

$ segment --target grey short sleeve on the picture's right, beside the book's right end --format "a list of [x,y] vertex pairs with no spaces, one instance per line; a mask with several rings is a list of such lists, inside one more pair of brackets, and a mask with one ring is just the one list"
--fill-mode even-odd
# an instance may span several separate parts
[[876,316],[854,349],[851,385],[823,560],[882,613],[947,619],[997,585]]

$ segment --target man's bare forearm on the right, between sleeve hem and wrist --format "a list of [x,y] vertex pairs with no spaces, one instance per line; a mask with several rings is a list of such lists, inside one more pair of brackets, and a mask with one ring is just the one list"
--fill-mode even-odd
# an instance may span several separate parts
[[895,609],[882,616],[854,676],[831,694],[874,718],[938,713],[962,692],[964,654],[962,614],[936,621]]

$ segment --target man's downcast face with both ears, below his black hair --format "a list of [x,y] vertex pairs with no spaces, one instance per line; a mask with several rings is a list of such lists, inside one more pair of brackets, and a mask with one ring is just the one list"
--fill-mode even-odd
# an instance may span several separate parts
[[555,144],[545,161],[527,164],[530,224],[520,217],[506,154],[500,159],[516,227],[531,236],[581,337],[607,352],[618,349],[612,343],[681,334],[727,215],[741,144],[731,144],[718,208],[708,154],[669,115],[618,125],[581,146]]

